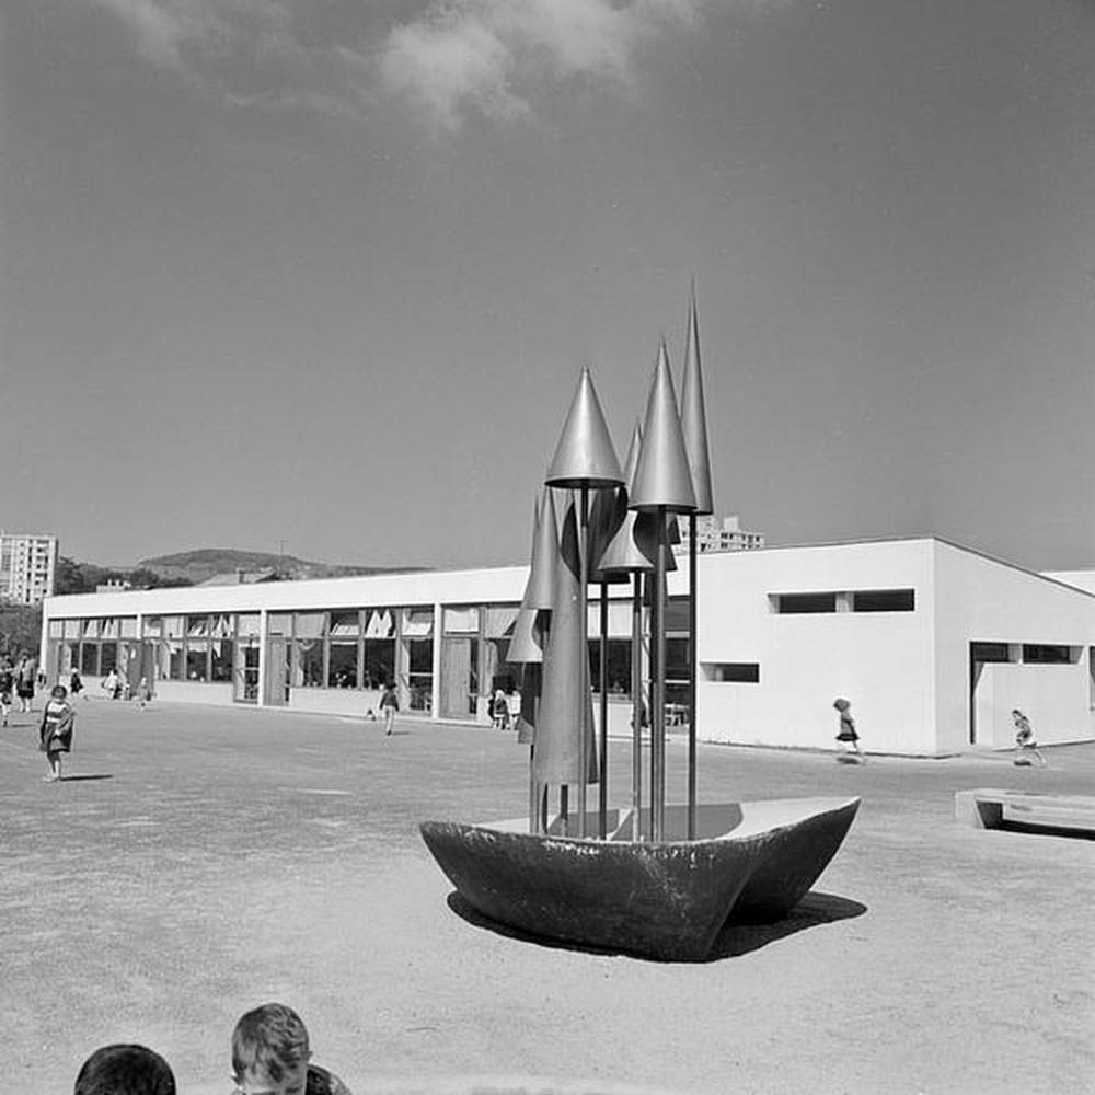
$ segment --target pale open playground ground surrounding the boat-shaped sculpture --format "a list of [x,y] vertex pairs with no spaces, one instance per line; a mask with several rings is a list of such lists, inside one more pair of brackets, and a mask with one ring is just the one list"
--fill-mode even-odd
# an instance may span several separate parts
[[[1095,746],[947,760],[701,747],[701,799],[860,794],[796,913],[712,960],[477,921],[417,833],[526,806],[504,731],[78,704],[65,782],[0,730],[0,1090],[64,1095],[108,1041],[227,1095],[238,1016],[281,1000],[355,1095],[1095,1090],[1095,841],[953,819],[964,787],[1095,794]],[[869,747],[871,728],[862,727]],[[671,798],[684,749],[669,747]],[[613,802],[631,752],[612,742]]]

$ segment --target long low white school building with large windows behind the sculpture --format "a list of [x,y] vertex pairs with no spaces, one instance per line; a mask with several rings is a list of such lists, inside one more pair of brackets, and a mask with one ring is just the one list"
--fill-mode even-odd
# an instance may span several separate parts
[[[688,560],[669,575],[667,701],[687,725]],[[394,680],[414,717],[486,723],[527,566],[49,597],[42,665],[112,668],[160,702],[364,716]],[[848,699],[867,751],[946,756],[1095,739],[1095,580],[938,538],[704,553],[696,561],[701,740],[831,748]],[[590,591],[592,683],[600,606]],[[631,585],[609,586],[611,733],[630,733]],[[595,704],[595,708],[598,705]]]

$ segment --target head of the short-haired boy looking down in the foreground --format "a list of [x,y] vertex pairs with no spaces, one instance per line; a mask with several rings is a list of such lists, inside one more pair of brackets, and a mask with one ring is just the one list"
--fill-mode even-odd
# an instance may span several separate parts
[[308,1030],[285,1004],[247,1012],[232,1031],[232,1076],[244,1095],[303,1095]]

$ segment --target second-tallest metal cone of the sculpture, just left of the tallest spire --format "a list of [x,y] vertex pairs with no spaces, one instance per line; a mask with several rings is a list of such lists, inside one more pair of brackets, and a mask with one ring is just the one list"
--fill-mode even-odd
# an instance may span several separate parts
[[627,505],[632,509],[664,507],[677,514],[695,509],[695,492],[681,435],[665,338],[658,347],[658,364],[654,369],[643,423],[643,447]]

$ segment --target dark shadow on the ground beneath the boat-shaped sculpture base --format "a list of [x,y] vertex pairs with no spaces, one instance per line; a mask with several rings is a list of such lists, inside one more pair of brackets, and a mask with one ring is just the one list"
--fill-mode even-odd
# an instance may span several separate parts
[[[548,936],[535,935],[532,932],[525,932],[483,915],[483,913],[465,901],[457,890],[449,894],[447,902],[449,908],[461,920],[466,921],[475,927],[494,932],[495,935],[502,935],[505,938],[532,943],[553,950],[576,950],[579,954],[591,955],[621,955],[638,961],[658,964],[667,961],[680,963],[680,959],[665,959],[652,957],[650,955],[632,954],[629,950],[618,947],[585,946],[579,943],[553,940]],[[771,943],[777,943],[780,940],[795,935],[797,932],[803,932],[810,927],[820,927],[823,924],[832,924],[840,920],[862,917],[866,911],[867,907],[860,901],[838,897],[833,894],[810,890],[786,917],[774,923],[746,923],[735,921],[731,917],[719,929],[718,935],[715,936],[715,942],[712,944],[707,956],[699,960],[701,963],[711,963],[722,961],[726,958],[740,958],[742,955],[760,950],[762,947],[766,947]]]

